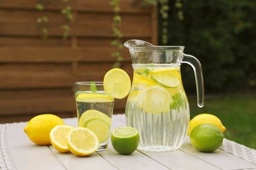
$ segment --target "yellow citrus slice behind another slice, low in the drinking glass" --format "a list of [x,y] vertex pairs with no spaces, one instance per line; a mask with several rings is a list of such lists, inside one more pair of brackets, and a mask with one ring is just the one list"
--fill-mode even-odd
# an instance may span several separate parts
[[90,120],[92,118],[95,118],[97,120],[103,120],[108,124],[108,126],[110,126],[111,124],[111,118],[108,117],[103,112],[100,112],[98,110],[87,110],[83,112],[82,116],[80,117],[79,126],[84,127],[85,122],[87,122],[87,120]]

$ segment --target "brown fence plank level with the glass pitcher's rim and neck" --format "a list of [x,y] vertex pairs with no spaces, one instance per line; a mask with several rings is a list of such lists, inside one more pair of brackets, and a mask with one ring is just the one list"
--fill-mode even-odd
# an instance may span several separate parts
[[[102,46],[101,48],[0,47],[0,62],[114,62],[116,59],[111,58],[110,56],[112,52],[115,51],[116,49],[113,46]],[[124,61],[131,60],[129,52],[126,48],[121,50],[121,56],[123,56]]]

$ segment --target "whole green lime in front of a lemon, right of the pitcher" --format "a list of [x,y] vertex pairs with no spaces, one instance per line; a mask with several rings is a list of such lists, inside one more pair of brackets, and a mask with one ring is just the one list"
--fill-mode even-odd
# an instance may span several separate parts
[[213,152],[223,144],[224,135],[219,127],[200,124],[191,131],[190,143],[202,152]]

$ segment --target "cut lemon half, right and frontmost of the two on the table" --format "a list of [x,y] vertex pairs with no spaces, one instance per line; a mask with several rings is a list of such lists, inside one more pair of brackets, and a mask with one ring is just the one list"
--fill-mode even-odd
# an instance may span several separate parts
[[85,127],[74,127],[68,132],[68,149],[76,156],[88,156],[98,149],[98,137]]

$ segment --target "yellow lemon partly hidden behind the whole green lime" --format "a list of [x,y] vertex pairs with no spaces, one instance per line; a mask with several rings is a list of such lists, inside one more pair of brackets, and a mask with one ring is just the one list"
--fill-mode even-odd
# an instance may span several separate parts
[[219,127],[219,129],[221,129],[223,133],[226,130],[226,127],[223,126],[223,124],[221,123],[221,120],[217,116],[213,114],[203,113],[203,114],[198,114],[197,116],[192,118],[192,120],[190,120],[189,126],[188,126],[188,135],[190,135],[194,127],[200,124],[213,124]]

